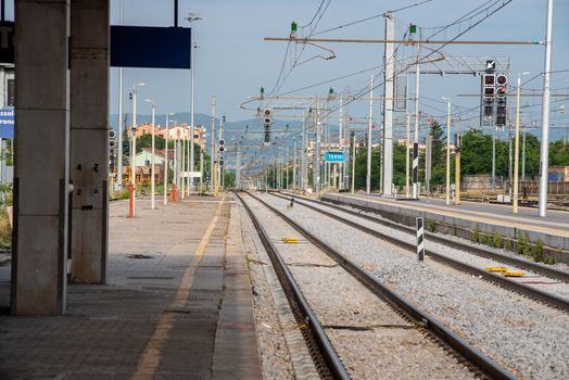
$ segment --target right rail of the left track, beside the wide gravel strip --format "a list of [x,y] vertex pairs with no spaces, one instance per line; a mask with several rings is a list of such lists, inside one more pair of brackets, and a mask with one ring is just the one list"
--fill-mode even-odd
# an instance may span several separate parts
[[306,240],[315,244],[321,251],[327,253],[333,258],[339,265],[354,276],[358,281],[365,284],[374,293],[388,301],[395,308],[402,311],[408,318],[415,320],[418,325],[422,326],[426,330],[430,331],[433,337],[444,342],[447,346],[458,353],[468,363],[473,365],[480,371],[491,379],[516,379],[507,369],[502,367],[500,364],[485,356],[481,351],[471,346],[466,340],[454,333],[450,328],[441,324],[434,317],[429,314],[419,311],[413,304],[405,301],[397,293],[390,290],[375,276],[368,274],[359,265],[353,263],[338,251],[329,246],[327,243],[316,238],[314,235],[308,232],[305,228],[296,224],[294,220],[289,218],[287,215],[276,210],[258,197],[249,193],[252,198],[256,199],[260,203],[265,205],[268,210],[277,214],[280,218],[292,226],[299,231]]

